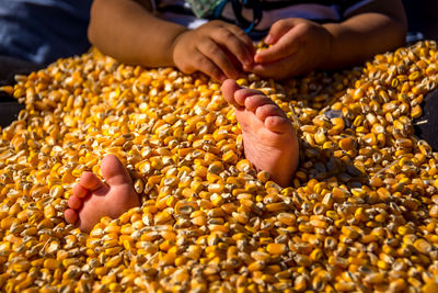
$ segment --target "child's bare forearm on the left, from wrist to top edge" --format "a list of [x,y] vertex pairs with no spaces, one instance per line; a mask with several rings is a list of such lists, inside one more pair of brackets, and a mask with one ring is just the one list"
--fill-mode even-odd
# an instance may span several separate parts
[[126,64],[174,66],[173,42],[184,31],[130,0],[95,0],[91,9],[90,42]]

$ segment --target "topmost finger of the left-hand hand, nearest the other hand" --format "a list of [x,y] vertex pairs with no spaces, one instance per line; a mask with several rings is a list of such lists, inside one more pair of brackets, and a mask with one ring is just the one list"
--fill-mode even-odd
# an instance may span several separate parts
[[253,44],[242,40],[234,34],[235,29],[219,27],[211,34],[211,38],[221,46],[226,47],[232,55],[234,55],[239,61],[250,67],[253,64]]

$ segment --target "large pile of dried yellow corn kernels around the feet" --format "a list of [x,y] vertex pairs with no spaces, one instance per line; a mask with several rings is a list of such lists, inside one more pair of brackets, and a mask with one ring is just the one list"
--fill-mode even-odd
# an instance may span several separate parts
[[[412,131],[438,82],[434,42],[284,87],[239,80],[298,129],[286,189],[242,159],[233,111],[204,76],[88,54],[18,80],[3,88],[26,110],[0,139],[1,291],[437,290],[438,156]],[[142,205],[89,236],[62,212],[107,153]]]

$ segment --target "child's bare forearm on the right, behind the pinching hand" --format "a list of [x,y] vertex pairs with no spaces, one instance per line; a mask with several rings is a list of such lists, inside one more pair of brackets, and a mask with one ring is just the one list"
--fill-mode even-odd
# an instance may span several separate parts
[[321,69],[351,66],[378,53],[395,49],[405,42],[406,21],[381,13],[355,15],[343,23],[323,25],[332,35],[328,58]]

